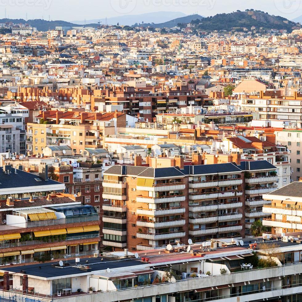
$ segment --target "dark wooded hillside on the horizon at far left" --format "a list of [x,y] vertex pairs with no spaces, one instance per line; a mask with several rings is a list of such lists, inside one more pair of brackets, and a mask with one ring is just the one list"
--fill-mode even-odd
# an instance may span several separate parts
[[[0,23],[5,22],[13,22],[13,23],[21,23],[21,24],[30,24],[32,27],[36,27],[38,31],[48,31],[49,29],[55,29],[56,26],[81,26],[80,24],[75,24],[71,22],[66,22],[62,20],[56,21],[46,21],[42,19],[34,19],[34,20],[27,20],[24,19],[0,19]],[[86,24],[87,27],[97,27],[98,24]]]

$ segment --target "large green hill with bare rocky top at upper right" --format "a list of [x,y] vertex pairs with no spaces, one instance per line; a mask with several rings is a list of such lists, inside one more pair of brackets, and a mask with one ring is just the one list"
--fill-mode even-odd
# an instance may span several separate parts
[[204,31],[230,31],[233,28],[246,27],[248,30],[252,26],[257,29],[263,27],[264,30],[277,29],[292,31],[292,27],[297,26],[295,22],[289,21],[280,16],[269,15],[260,11],[237,11],[230,14],[217,14],[214,17],[203,18],[197,26]]

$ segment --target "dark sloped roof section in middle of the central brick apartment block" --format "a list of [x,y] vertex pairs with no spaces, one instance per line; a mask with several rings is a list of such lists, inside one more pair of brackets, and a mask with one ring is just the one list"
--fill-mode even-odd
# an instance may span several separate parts
[[238,173],[241,169],[236,163],[190,166],[190,174]]

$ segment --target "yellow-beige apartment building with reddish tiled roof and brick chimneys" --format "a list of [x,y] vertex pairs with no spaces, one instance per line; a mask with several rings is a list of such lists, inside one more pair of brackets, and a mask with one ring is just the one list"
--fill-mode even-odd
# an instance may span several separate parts
[[126,126],[126,115],[117,111],[103,114],[43,111],[36,118],[38,123],[27,124],[27,149],[35,155],[43,153],[49,145],[69,146],[76,154],[100,149],[104,137],[115,135],[117,128]]

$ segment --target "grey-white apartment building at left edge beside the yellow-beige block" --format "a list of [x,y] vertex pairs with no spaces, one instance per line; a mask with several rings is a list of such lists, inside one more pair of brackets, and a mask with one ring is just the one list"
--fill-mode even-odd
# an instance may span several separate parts
[[0,152],[26,153],[28,109],[22,106],[0,108]]

